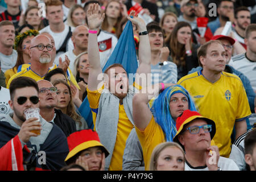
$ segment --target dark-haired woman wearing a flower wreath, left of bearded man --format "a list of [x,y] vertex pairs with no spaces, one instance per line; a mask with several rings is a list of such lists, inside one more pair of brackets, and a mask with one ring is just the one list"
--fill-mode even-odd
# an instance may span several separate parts
[[14,49],[16,49],[18,53],[18,57],[15,66],[5,72],[6,85],[11,76],[17,73],[19,65],[30,63],[28,50],[30,49],[31,40],[37,35],[39,35],[39,31],[27,30],[26,32],[23,32],[15,37]]

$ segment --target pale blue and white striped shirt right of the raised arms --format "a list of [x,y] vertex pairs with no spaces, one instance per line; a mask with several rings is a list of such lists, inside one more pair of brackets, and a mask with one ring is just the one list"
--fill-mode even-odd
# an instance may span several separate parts
[[172,62],[164,61],[156,65],[151,64],[152,85],[163,82],[176,84],[177,82],[177,65]]

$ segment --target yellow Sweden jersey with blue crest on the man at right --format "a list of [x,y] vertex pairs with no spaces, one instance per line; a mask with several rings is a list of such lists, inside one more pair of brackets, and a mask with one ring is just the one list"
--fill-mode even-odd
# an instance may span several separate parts
[[235,122],[250,117],[249,102],[242,81],[236,75],[222,72],[218,81],[208,81],[195,72],[177,82],[191,94],[199,113],[216,124],[214,142],[220,155],[226,158],[231,152],[231,138]]

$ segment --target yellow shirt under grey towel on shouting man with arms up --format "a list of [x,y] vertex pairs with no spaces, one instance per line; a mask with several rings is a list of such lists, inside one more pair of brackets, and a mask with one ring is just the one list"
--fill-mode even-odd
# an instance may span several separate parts
[[[102,86],[101,89],[95,90],[95,91],[90,91],[87,88],[87,97],[90,104],[90,108],[92,109],[94,130],[96,126],[98,104],[99,104],[101,92],[103,89],[104,89],[104,86]],[[129,137],[129,134],[131,132],[131,129],[133,129],[133,127],[134,127],[133,124],[130,122],[129,118],[125,113],[125,108],[123,107],[123,105],[119,104],[117,137],[115,140],[113,155],[112,155],[112,159],[109,166],[110,171],[122,170],[123,151],[125,150],[126,140]]]

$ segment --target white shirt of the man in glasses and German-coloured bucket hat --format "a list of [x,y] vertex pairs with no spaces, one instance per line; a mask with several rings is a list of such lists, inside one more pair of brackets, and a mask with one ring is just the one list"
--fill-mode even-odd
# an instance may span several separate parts
[[[232,159],[224,158],[222,156],[218,159],[218,167],[220,167],[222,171],[240,171],[237,164]],[[209,171],[209,169],[208,167],[193,168],[190,164],[185,162],[184,171]]]

